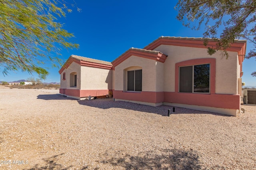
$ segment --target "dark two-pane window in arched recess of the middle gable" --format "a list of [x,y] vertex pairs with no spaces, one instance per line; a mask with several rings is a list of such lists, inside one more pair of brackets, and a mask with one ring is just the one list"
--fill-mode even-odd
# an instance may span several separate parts
[[142,70],[127,71],[127,90],[142,91]]

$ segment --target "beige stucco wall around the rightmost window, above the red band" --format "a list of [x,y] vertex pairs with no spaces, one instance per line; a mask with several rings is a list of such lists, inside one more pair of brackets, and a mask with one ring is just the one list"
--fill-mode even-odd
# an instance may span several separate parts
[[[160,45],[156,51],[168,55],[164,63],[164,91],[175,92],[175,64],[202,58],[216,59],[216,94],[238,94],[238,76],[240,67],[238,64],[237,52],[228,51],[228,59],[224,57],[222,51],[217,51],[214,55],[208,55],[207,49],[194,47],[180,47],[172,45]],[[238,66],[237,66],[238,64]],[[239,69],[239,70],[238,70]]]

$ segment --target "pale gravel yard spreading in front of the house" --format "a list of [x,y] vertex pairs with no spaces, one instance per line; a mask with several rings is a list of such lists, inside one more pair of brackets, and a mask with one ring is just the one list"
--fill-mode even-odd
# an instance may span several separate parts
[[169,108],[0,86],[0,169],[256,169],[256,106]]

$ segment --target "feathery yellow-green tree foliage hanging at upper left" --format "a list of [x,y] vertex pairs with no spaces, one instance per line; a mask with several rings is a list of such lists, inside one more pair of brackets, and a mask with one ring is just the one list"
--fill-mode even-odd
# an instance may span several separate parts
[[40,65],[50,61],[57,66],[60,48],[78,48],[68,42],[74,35],[56,21],[71,11],[64,0],[0,0],[2,73],[22,70],[45,79],[48,71]]

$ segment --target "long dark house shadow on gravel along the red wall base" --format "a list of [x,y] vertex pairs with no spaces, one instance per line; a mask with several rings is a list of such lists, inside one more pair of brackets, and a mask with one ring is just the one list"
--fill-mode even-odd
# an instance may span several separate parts
[[[161,105],[158,107],[153,106],[146,106],[142,104],[135,104],[131,102],[124,102],[124,101],[113,101],[113,99],[96,99],[96,100],[78,100],[77,101],[80,105],[90,106],[90,107],[97,107],[100,109],[110,109],[110,108],[120,108],[120,109],[130,109],[135,111],[141,111],[146,113],[155,113],[162,116],[167,116],[168,109],[170,109],[170,116],[172,114],[206,114],[205,111],[199,111],[194,109],[185,109],[181,107],[175,107],[175,112],[173,111],[173,106],[166,106]],[[207,112],[208,114],[212,115],[220,115],[225,117],[231,117],[229,115],[222,115],[219,113]]]

